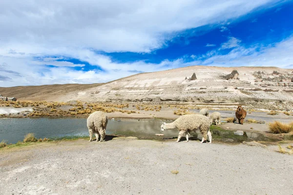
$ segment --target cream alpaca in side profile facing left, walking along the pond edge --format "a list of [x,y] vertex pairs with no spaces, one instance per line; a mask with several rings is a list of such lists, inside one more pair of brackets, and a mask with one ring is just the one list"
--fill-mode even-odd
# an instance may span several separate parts
[[200,130],[200,133],[203,135],[203,139],[201,143],[205,140],[208,140],[211,143],[211,133],[209,131],[209,118],[203,115],[184,115],[177,118],[174,122],[166,123],[163,122],[161,126],[161,131],[165,131],[166,129],[175,129],[179,130],[178,139],[176,142],[179,142],[180,138],[186,135],[186,141],[188,141],[188,137],[191,131],[195,131],[197,129]]

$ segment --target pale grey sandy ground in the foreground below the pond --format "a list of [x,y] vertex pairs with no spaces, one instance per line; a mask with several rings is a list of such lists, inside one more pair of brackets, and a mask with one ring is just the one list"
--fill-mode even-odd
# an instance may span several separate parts
[[0,194],[293,194],[293,156],[271,149],[107,139],[1,149]]

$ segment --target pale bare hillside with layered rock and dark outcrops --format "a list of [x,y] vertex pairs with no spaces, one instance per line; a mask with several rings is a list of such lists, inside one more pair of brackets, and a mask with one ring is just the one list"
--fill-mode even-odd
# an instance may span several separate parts
[[[185,79],[191,78],[193,73],[196,75],[196,77],[193,76],[194,80]],[[42,95],[42,91],[30,94],[30,89],[27,89],[28,92],[25,98],[43,98],[44,100],[57,101],[126,100],[215,103],[250,100],[265,102],[292,101],[292,79],[291,69],[276,67],[226,68],[190,66],[161,72],[138,74],[102,85],[93,84],[86,87],[73,87],[74,89],[71,91],[63,90],[62,86],[60,86],[60,91],[56,92],[54,96]],[[42,86],[38,87],[40,87],[40,90],[47,91],[46,87],[43,89],[41,89]],[[5,95],[2,91],[3,88],[0,88],[0,93]],[[13,93],[13,91],[9,93],[9,96],[23,97],[18,97],[18,94]]]

